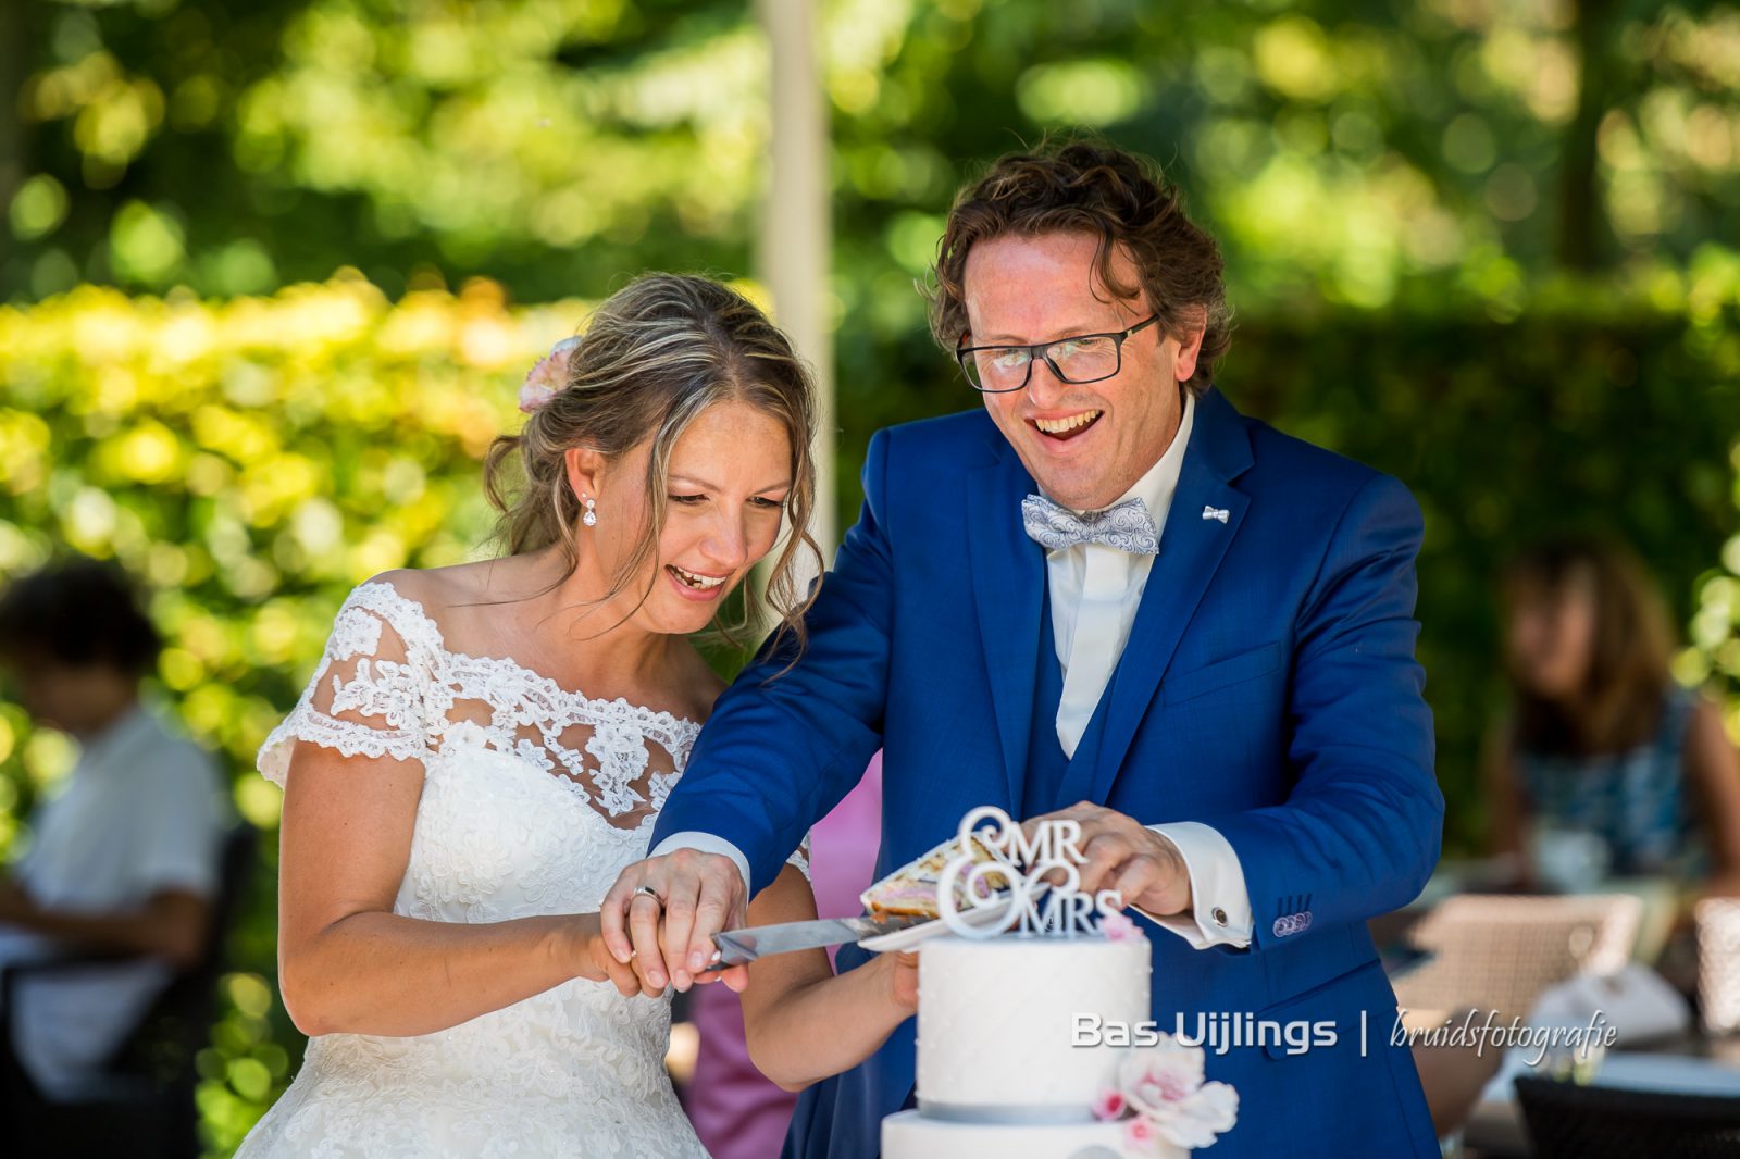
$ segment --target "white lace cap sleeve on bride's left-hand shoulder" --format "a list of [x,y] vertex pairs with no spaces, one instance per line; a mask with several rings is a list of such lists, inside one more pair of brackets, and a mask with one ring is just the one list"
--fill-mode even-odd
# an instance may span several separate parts
[[390,585],[351,592],[301,700],[259,748],[261,774],[284,787],[296,741],[345,757],[423,759],[430,656],[419,628],[416,607]]

